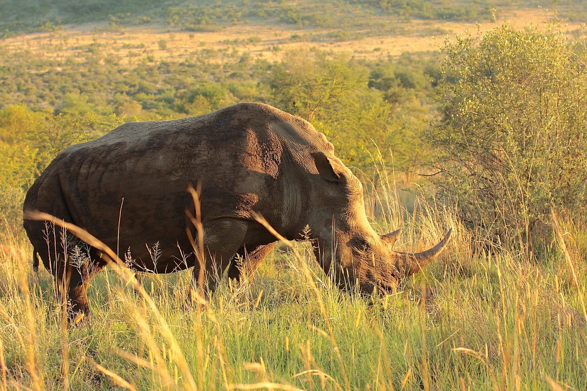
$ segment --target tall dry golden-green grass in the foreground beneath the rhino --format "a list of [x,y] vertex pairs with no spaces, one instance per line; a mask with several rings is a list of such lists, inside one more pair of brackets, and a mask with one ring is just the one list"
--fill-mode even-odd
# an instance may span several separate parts
[[585,389],[585,227],[557,220],[540,257],[488,247],[423,196],[408,210],[395,187],[377,195],[376,227],[403,227],[396,249],[454,233],[425,274],[371,300],[284,242],[251,284],[200,305],[185,305],[189,271],[137,284],[113,264],[92,281],[92,316],[67,328],[14,235],[0,254],[0,389]]

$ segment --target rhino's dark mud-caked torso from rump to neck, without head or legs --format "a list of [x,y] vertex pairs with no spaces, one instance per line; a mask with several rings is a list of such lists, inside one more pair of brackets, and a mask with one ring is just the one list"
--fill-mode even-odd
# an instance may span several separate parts
[[286,229],[303,209],[296,183],[308,171],[309,151],[331,146],[305,121],[262,104],[127,123],[66,148],[29,191],[29,208],[64,213],[56,207],[59,193],[69,216],[58,217],[69,217],[109,246],[131,247],[134,258],[144,259],[145,244],[160,242],[163,257],[173,257],[178,243],[188,247],[188,183],[201,184],[204,220],[250,219],[255,209]]

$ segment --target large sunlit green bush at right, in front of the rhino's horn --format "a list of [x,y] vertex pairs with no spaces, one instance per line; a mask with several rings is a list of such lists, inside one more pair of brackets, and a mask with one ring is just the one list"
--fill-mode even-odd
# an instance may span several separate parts
[[444,118],[427,132],[434,182],[465,222],[536,244],[551,209],[586,209],[585,41],[569,42],[558,21],[506,23],[441,53]]

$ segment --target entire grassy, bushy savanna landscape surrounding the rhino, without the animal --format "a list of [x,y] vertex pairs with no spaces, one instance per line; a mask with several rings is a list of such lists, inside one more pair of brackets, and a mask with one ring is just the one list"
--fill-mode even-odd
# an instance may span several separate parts
[[[0,389],[587,389],[586,9],[3,1]],[[195,304],[190,271],[107,268],[68,322],[22,229],[33,181],[119,124],[241,101],[323,132],[375,230],[403,229],[394,249],[453,228],[447,248],[373,297],[339,291],[308,242]]]

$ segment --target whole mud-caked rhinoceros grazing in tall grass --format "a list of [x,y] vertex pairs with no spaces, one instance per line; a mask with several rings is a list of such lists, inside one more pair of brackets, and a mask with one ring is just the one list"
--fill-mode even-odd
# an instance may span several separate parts
[[[186,217],[195,210],[187,186],[196,183],[203,262],[186,231],[197,237]],[[110,249],[128,251],[126,263],[134,270],[193,267],[194,277],[202,271],[200,289],[207,293],[227,269],[231,279],[250,276],[274,249],[276,237],[254,213],[286,239],[304,239],[306,232],[333,282],[362,294],[376,287],[393,290],[438,256],[451,234],[421,253],[393,251],[399,230],[382,236],[373,230],[360,181],[335,157],[325,135],[302,118],[260,103],[181,120],[126,123],[72,145],[33,183],[23,209],[49,213],[86,229]],[[42,221],[25,218],[23,226],[33,262],[38,266],[41,257],[66,291],[70,314],[89,313],[86,290],[107,264],[103,254],[90,248],[89,261],[72,266],[67,235]]]

